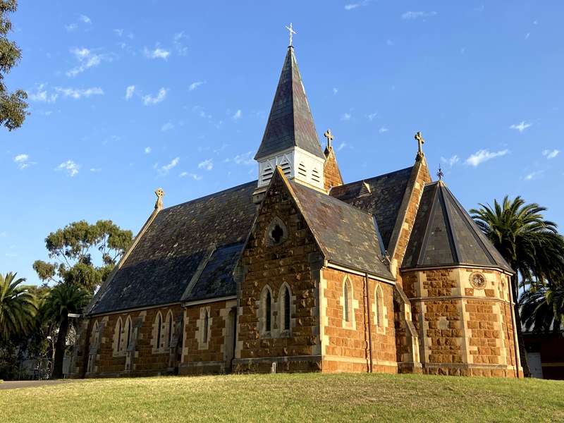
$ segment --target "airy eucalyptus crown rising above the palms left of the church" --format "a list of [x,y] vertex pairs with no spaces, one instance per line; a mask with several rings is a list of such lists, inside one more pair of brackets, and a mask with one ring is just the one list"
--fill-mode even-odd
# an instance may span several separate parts
[[45,238],[49,258],[55,261],[37,260],[33,269],[42,281],[75,283],[92,292],[106,279],[132,241],[131,231],[109,220],[94,224],[73,222]]

